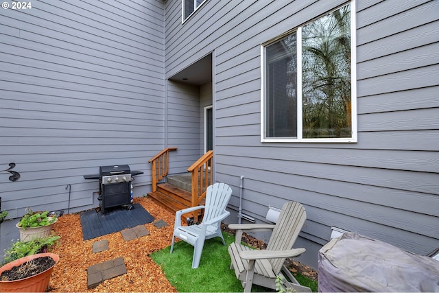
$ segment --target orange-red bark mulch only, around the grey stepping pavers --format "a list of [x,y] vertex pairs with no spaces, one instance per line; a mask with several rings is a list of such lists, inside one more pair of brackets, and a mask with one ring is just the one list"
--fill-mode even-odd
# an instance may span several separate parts
[[[158,207],[150,198],[134,198],[134,203],[140,203],[156,220],[164,220],[167,226],[156,228],[154,222],[145,224],[150,235],[129,242],[120,232],[84,240],[79,214],[58,218],[54,231],[61,239],[51,253],[60,255],[60,261],[52,273],[49,292],[177,292],[150,257],[150,253],[171,244],[175,215]],[[103,239],[108,240],[108,250],[92,253],[93,243]],[[88,290],[88,266],[117,257],[123,257],[127,273]]]

